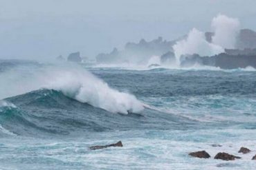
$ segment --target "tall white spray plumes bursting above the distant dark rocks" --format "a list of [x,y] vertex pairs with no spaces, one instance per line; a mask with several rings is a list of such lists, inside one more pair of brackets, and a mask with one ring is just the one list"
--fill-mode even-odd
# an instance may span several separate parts
[[176,57],[176,65],[180,66],[181,56],[186,54],[199,54],[200,56],[213,56],[225,52],[225,48],[235,47],[239,32],[238,19],[219,14],[212,19],[214,36],[212,42],[205,39],[205,34],[193,28],[186,39],[178,41],[172,46]]

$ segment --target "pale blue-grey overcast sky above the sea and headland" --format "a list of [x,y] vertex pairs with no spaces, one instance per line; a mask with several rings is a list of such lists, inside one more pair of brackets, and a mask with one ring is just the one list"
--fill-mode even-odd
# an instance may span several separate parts
[[212,17],[256,30],[255,0],[0,0],[0,59],[94,57],[127,41],[210,30]]

